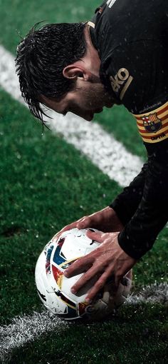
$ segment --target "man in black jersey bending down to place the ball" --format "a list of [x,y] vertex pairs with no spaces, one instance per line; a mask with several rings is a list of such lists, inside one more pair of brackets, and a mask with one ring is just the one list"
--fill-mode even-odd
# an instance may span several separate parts
[[21,92],[34,116],[43,121],[44,105],[91,121],[104,106],[122,103],[147,149],[142,171],[110,206],[63,228],[102,231],[88,232],[100,246],[65,272],[85,272],[73,293],[97,275],[88,302],[110,276],[117,289],[167,223],[167,21],[167,0],[108,0],[92,21],[32,29],[18,47]]

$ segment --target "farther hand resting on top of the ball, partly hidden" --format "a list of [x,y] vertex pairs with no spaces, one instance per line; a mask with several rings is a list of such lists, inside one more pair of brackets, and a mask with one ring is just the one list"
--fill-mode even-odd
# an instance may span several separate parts
[[56,234],[59,237],[63,231],[67,231],[73,228],[84,229],[84,228],[97,228],[104,233],[110,231],[122,231],[124,226],[117,217],[115,211],[107,206],[98,212],[93,213],[89,216],[84,216],[78,221],[74,221],[69,225],[65,226],[61,231]]

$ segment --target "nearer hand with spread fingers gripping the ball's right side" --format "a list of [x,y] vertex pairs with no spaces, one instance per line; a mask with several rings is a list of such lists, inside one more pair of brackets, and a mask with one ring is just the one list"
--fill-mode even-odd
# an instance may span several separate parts
[[88,231],[88,238],[98,241],[100,246],[88,255],[79,258],[68,269],[65,270],[65,276],[70,278],[73,275],[83,273],[83,276],[71,288],[72,293],[78,292],[91,278],[98,276],[95,285],[88,291],[87,302],[91,302],[95,295],[105,285],[108,278],[113,278],[113,290],[117,291],[121,278],[130,268],[135,265],[136,261],[127,255],[120,248],[117,241],[117,233],[100,233]]

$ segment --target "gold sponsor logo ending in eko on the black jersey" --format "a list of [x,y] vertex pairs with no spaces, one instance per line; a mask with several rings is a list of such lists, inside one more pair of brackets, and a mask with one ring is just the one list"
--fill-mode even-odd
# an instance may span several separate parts
[[120,100],[125,96],[125,92],[132,82],[133,77],[130,76],[129,71],[125,68],[119,69],[117,74],[110,76],[112,90],[120,97]]

